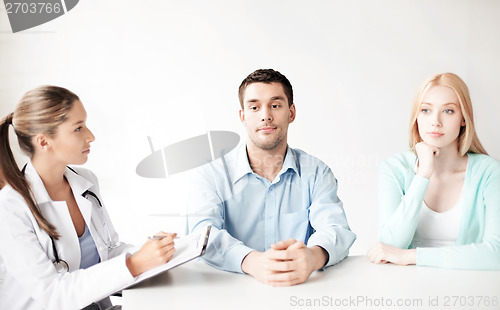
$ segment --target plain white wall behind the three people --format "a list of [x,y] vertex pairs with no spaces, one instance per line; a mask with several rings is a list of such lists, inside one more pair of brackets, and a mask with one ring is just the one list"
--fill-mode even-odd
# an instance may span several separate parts
[[429,75],[469,85],[477,130],[500,159],[498,1],[108,1],[12,34],[0,12],[0,114],[41,84],[77,93],[97,140],[87,167],[100,177],[123,239],[183,232],[185,176],[144,179],[135,167],[157,148],[231,130],[237,88],[258,68],[285,74],[297,119],[289,144],[321,158],[363,254],[376,241],[380,161],[407,147],[410,105]]

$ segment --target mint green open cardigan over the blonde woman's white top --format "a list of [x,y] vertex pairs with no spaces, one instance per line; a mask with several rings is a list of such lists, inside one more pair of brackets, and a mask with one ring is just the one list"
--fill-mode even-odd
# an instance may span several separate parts
[[[500,269],[500,162],[467,154],[463,211],[456,245],[417,248],[417,265],[454,269]],[[412,248],[429,180],[415,174],[413,152],[386,159],[379,173],[379,240]]]

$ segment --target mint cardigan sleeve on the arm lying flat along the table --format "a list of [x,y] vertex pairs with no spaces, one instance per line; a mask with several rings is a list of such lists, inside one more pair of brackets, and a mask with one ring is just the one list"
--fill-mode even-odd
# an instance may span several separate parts
[[[478,242],[464,245],[418,248],[417,265],[453,269],[500,269],[500,165],[495,162],[487,175],[476,178],[475,181],[479,184],[471,184],[476,186],[473,190],[475,205],[471,219],[484,217],[482,238],[476,238]],[[477,219],[480,223],[481,218]],[[474,239],[474,236],[466,237]]]

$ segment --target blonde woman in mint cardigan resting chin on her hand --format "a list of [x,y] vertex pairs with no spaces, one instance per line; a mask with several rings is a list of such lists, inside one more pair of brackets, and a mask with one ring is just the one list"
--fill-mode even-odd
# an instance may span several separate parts
[[474,129],[466,84],[431,76],[413,105],[410,148],[380,167],[374,263],[500,269],[500,163]]

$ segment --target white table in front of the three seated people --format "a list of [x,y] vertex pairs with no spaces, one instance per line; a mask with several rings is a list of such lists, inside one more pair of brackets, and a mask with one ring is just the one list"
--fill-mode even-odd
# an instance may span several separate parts
[[195,261],[123,291],[123,309],[500,309],[500,271],[376,265],[350,256],[274,288]]

